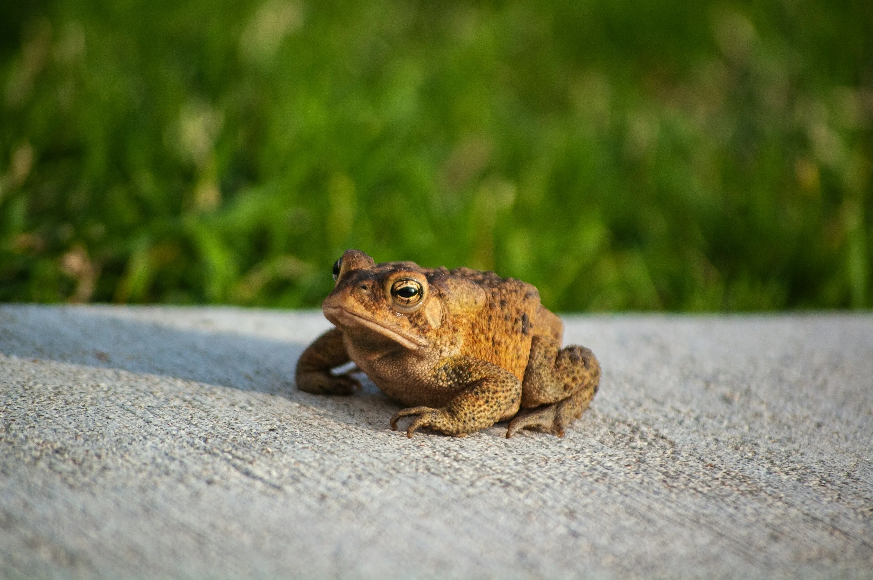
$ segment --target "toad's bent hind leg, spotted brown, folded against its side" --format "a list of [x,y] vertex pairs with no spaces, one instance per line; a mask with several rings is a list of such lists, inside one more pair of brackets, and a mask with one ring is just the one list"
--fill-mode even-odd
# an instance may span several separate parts
[[[564,435],[564,428],[591,404],[600,386],[601,368],[584,346],[560,348],[553,337],[534,336],[522,383],[519,413],[506,437],[519,429],[539,429]],[[536,408],[533,408],[536,407]]]

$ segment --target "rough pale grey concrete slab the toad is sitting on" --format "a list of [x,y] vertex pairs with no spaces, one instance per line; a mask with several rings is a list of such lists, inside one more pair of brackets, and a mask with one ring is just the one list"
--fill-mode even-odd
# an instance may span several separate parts
[[0,306],[0,576],[873,576],[873,317],[565,321],[565,438],[409,440],[318,312]]

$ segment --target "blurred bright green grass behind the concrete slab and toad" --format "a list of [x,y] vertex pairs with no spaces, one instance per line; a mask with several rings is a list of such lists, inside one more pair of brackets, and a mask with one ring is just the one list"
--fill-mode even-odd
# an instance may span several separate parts
[[0,3],[0,300],[870,306],[869,0]]

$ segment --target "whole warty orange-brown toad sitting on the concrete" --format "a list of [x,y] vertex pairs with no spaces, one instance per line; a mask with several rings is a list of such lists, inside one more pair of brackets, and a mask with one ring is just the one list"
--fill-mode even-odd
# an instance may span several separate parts
[[[600,365],[582,346],[561,348],[564,325],[531,284],[469,268],[375,263],[349,249],[334,266],[336,286],[321,305],[336,328],[300,355],[299,389],[345,395],[365,372],[427,426],[463,436],[512,420],[506,432],[558,435],[588,408]],[[357,369],[331,369],[354,361]],[[519,413],[520,410],[520,413]]]

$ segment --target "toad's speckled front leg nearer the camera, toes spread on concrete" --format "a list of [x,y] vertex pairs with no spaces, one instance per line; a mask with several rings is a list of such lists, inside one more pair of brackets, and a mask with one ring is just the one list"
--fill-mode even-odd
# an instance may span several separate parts
[[498,365],[478,358],[454,357],[436,369],[433,379],[446,388],[464,385],[464,390],[441,409],[416,406],[395,413],[391,418],[392,429],[397,430],[401,417],[417,415],[406,429],[408,437],[421,426],[464,436],[509,419],[519,411],[521,381]]

